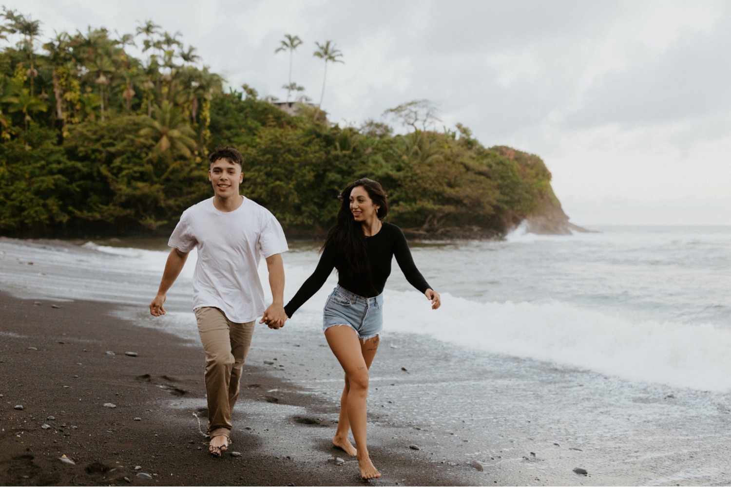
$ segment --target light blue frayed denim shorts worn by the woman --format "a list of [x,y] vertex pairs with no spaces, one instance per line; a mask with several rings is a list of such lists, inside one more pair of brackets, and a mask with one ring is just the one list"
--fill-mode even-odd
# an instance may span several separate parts
[[364,298],[338,285],[327,296],[322,310],[322,331],[336,325],[350,326],[363,341],[380,334],[383,329],[383,293],[374,298]]

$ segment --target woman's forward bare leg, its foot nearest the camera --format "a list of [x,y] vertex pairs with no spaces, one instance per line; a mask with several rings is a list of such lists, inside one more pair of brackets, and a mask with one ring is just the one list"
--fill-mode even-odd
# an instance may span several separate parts
[[[370,362],[373,361],[378,340],[376,340],[375,347],[371,343],[373,340],[367,340],[365,344],[362,344],[358,340],[355,330],[349,326],[330,326],[325,330],[325,338],[347,377],[348,394],[345,405],[349,426],[352,429],[353,438],[355,438],[360,477],[364,479],[380,477],[380,472],[374,467],[368,456],[366,446],[366,397],[368,396],[368,367],[370,364],[366,364],[366,358],[363,356],[364,351],[371,352],[369,353]],[[347,434],[347,430],[345,432]]]

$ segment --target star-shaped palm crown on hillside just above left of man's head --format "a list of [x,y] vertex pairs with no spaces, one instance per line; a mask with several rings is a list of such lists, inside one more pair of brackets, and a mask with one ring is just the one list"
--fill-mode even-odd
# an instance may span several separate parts
[[155,107],[154,117],[145,117],[144,123],[146,126],[139,134],[156,142],[152,149],[154,152],[192,156],[191,150],[196,147],[193,139],[195,132],[170,101],[163,101],[162,107]]

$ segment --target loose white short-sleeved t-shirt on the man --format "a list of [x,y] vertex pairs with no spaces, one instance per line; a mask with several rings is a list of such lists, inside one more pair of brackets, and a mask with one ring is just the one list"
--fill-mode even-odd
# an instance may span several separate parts
[[213,198],[194,204],[167,245],[181,252],[198,249],[193,308],[217,307],[234,323],[253,321],[265,310],[260,256],[289,250],[279,221],[248,198],[232,212],[216,210]]

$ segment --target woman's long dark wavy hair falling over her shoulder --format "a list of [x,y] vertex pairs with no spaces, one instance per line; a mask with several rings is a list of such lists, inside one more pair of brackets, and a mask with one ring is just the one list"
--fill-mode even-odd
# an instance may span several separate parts
[[360,281],[364,284],[363,288],[367,288],[371,296],[377,292],[373,285],[371,276],[371,264],[368,262],[368,247],[366,245],[366,236],[363,234],[363,226],[355,221],[350,211],[350,193],[353,188],[362,186],[368,192],[373,203],[378,206],[379,220],[388,214],[388,202],[386,193],[381,185],[367,177],[350,183],[338,195],[340,199],[340,210],[338,210],[338,220],[335,226],[327,232],[325,247],[332,246],[336,252],[336,268],[338,275],[344,280],[353,282]]

